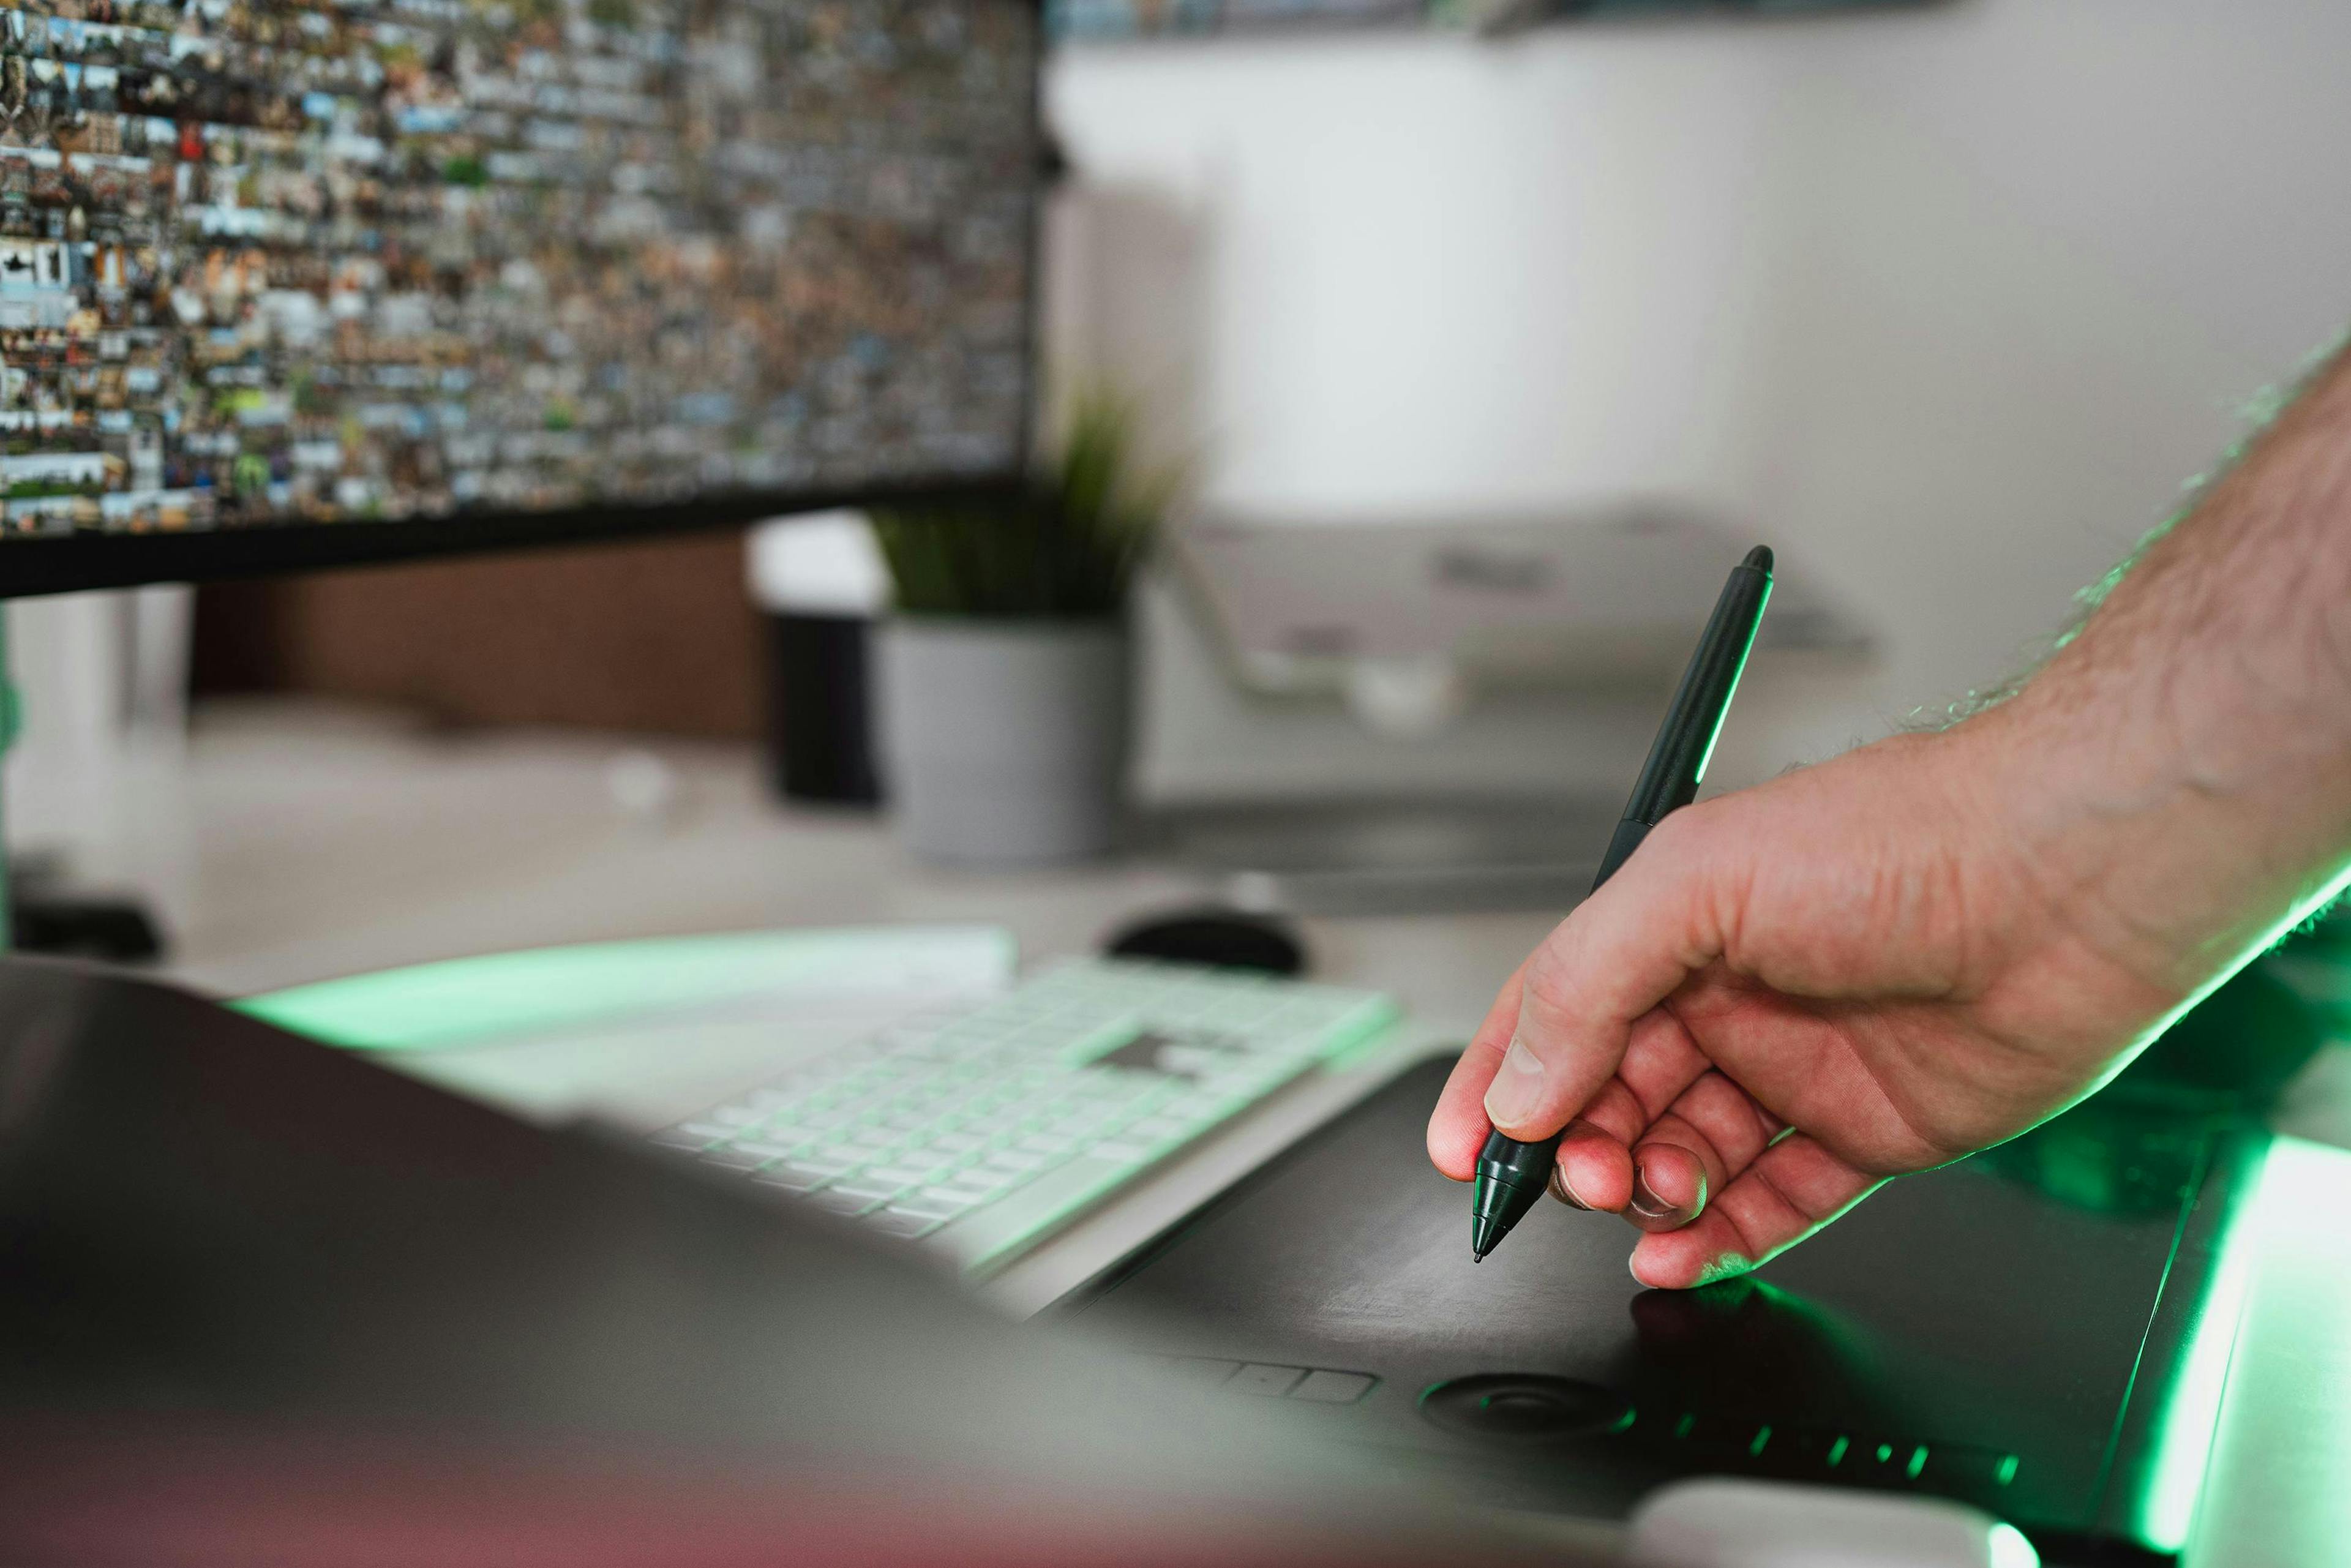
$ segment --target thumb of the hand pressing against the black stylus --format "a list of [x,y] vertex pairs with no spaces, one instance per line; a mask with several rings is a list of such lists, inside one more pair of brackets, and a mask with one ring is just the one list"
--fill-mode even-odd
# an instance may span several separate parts
[[1690,806],[1657,823],[1526,961],[1519,1025],[1486,1088],[1502,1133],[1533,1143],[1563,1128],[1615,1077],[1634,1020],[1721,957],[1723,867],[1700,818]]

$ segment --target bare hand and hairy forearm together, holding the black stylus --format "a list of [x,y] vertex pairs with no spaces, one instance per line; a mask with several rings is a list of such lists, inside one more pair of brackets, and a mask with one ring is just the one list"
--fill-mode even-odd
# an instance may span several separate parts
[[[2351,360],[2020,693],[1665,818],[1429,1121],[1695,1286],[2097,1088],[2351,879]],[[1516,1246],[1540,1246],[1540,1237]]]

